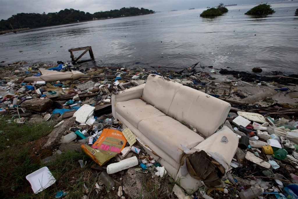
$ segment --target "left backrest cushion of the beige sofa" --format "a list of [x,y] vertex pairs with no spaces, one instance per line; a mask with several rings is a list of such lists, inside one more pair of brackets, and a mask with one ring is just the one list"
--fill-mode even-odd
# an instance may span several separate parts
[[163,113],[168,114],[173,97],[181,86],[171,79],[151,74],[148,76],[142,98]]

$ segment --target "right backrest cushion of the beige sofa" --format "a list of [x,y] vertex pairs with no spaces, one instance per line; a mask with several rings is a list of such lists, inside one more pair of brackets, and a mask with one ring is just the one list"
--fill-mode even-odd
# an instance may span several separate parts
[[168,114],[192,125],[208,137],[225,122],[230,108],[228,102],[188,86],[181,86],[174,96]]

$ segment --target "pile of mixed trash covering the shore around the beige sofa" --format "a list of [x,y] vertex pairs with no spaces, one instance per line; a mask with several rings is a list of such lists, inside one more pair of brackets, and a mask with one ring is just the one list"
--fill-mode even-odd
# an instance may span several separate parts
[[[126,175],[144,173],[163,178],[167,172],[138,145],[129,128],[122,128],[121,122],[114,120],[111,95],[144,84],[149,74],[162,75],[191,88],[205,90],[207,84],[216,79],[210,75],[216,74],[216,70],[201,67],[203,71],[200,71],[195,66],[182,71],[160,71],[163,69],[128,69],[120,65],[77,67],[63,62],[58,62],[58,65],[15,63],[1,70],[0,113],[20,125],[32,120],[53,120],[55,129],[47,136],[42,148],[54,150],[55,154],[41,160],[43,163],[55,160],[65,148],[79,146],[78,150],[83,150],[96,163],[91,169],[99,172],[100,180],[94,183],[97,193],[105,187],[118,189],[120,198],[135,198],[138,196],[128,186],[115,187],[109,175],[123,175],[128,169]],[[224,125],[239,137],[238,150],[229,172],[222,179],[222,186],[201,187],[192,196],[186,196],[177,185],[170,192],[173,191],[178,198],[297,198],[297,108],[270,101],[268,98],[278,92],[274,90],[247,97],[237,88],[240,86],[238,82],[244,79],[239,81],[237,78],[225,77],[222,82],[230,85],[226,86],[228,90],[230,88],[229,94],[216,89],[222,88],[220,82],[213,85],[212,91],[205,90],[207,94],[231,104],[231,112]],[[33,81],[35,79],[37,81]],[[279,92],[282,91],[287,89]],[[266,105],[260,103],[263,100]],[[80,166],[85,166],[83,161],[80,161]],[[50,173],[47,167],[43,167],[26,177],[35,193],[55,183]],[[48,186],[40,187],[36,182],[44,174],[48,174],[43,179],[47,180]],[[129,181],[134,181],[131,177],[129,179],[126,179],[127,185]],[[86,188],[87,195],[89,191]],[[61,196],[66,194],[57,192]]]

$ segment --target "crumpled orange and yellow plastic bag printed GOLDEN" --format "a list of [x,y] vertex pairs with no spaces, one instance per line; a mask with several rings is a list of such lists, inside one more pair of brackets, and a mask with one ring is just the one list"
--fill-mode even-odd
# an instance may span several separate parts
[[126,139],[121,131],[104,128],[92,146],[82,144],[83,151],[100,166],[119,154],[125,147]]

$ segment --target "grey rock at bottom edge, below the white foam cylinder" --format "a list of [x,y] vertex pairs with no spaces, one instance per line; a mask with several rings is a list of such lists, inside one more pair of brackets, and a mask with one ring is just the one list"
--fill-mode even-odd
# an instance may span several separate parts
[[148,198],[148,192],[144,185],[144,173],[134,171],[134,168],[129,168],[123,176],[123,186],[125,194],[131,198]]

